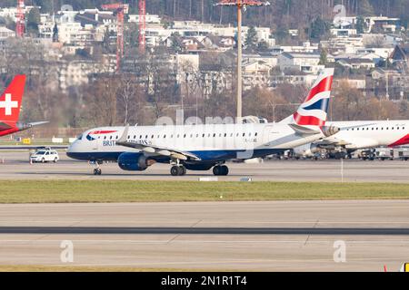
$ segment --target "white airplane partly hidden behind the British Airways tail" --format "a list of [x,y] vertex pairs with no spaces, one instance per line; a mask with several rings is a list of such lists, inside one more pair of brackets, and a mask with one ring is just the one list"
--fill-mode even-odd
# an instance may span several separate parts
[[[283,121],[284,123],[284,121]],[[397,147],[409,144],[409,121],[332,121],[327,126],[340,128],[336,134],[294,148],[294,153],[312,156],[320,149],[344,150],[350,154],[354,150],[376,147]]]

